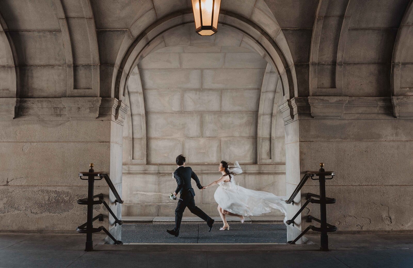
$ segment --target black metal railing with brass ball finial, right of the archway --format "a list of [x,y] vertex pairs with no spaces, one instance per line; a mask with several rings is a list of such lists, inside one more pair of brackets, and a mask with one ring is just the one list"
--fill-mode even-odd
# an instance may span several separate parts
[[306,232],[309,230],[313,230],[316,232],[321,232],[320,241],[321,247],[320,250],[328,251],[328,232],[334,232],[337,230],[337,227],[327,223],[327,215],[326,215],[326,204],[334,204],[336,199],[325,197],[325,180],[330,180],[335,176],[335,172],[325,171],[324,164],[320,163],[320,170],[319,171],[307,171],[304,177],[300,180],[300,183],[295,188],[294,192],[292,193],[291,197],[285,201],[287,204],[294,205],[294,198],[297,196],[298,192],[304,186],[308,178],[311,180],[318,180],[320,185],[320,195],[307,193],[306,194],[306,202],[303,206],[297,211],[297,213],[292,217],[290,220],[286,221],[288,225],[292,224],[294,226],[294,220],[297,218],[300,213],[306,208],[309,203],[313,204],[320,204],[320,220],[315,218],[311,215],[307,216],[307,222],[316,221],[320,223],[320,227],[315,227],[313,225],[309,225],[304,231],[299,234],[294,240],[288,241],[288,244],[295,244]]

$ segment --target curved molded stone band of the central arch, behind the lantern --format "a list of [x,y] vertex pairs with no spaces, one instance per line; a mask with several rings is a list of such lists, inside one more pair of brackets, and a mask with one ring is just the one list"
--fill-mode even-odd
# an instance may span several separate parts
[[[141,21],[135,21],[131,28],[138,27],[135,25],[139,23]],[[126,33],[114,69],[114,79],[112,80],[112,93],[114,97],[119,98],[119,100],[123,99],[128,76],[138,62],[161,42],[160,36],[177,26],[192,23],[192,10],[185,9],[169,14],[146,29],[142,28],[142,32],[138,30],[135,31],[135,34],[132,32]],[[221,27],[230,26],[242,32],[249,39],[249,45],[263,55],[266,55],[269,58],[268,62],[271,62],[280,74],[285,98],[290,99],[297,96],[297,78],[294,62],[287,41],[276,21],[268,23],[270,24],[268,28],[273,29],[271,33],[268,33],[258,24],[245,17],[221,10],[218,24]]]

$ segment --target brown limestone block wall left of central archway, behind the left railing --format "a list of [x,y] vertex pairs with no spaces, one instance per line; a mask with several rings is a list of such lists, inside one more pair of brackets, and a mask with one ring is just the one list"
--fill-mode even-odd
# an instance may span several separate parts
[[[75,232],[86,219],[76,204],[87,194],[79,171],[93,162],[121,190],[127,107],[100,97],[90,1],[1,1],[0,13],[0,230]],[[104,182],[95,191],[121,216]],[[120,238],[108,211],[95,209]]]

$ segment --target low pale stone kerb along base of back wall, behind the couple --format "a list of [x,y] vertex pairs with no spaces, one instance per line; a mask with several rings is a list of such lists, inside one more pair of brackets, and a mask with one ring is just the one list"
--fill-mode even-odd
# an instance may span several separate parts
[[[221,217],[212,217],[216,222],[222,222]],[[225,217],[229,223],[241,223],[240,218],[235,216]],[[249,216],[245,217],[244,223],[282,223],[283,216]],[[123,223],[172,223],[175,217],[154,217],[154,216],[122,216]],[[183,223],[203,222],[199,217],[182,217]]]

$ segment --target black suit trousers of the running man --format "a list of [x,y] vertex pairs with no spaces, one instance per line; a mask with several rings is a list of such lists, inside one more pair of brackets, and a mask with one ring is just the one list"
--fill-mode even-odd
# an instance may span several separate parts
[[183,211],[185,211],[185,208],[188,207],[188,209],[191,211],[191,213],[197,215],[199,218],[202,218],[204,221],[206,221],[209,225],[211,222],[211,217],[207,215],[204,211],[202,211],[199,207],[195,205],[195,200],[194,196],[192,195],[191,191],[185,191],[180,195],[180,198],[182,200],[178,201],[178,205],[176,206],[175,209],[175,228],[173,229],[175,232],[179,232],[180,228],[180,223],[182,221],[182,214]]

